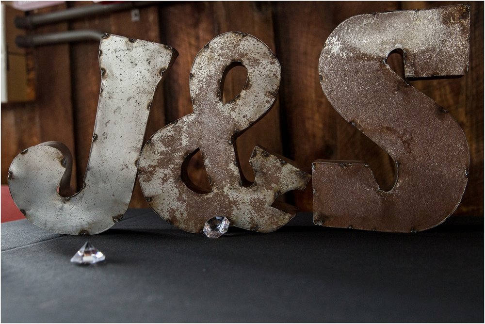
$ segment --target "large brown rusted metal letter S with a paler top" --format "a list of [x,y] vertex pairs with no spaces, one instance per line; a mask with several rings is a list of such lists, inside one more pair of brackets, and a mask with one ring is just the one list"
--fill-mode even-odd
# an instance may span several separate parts
[[384,192],[363,162],[314,162],[315,224],[420,231],[460,203],[469,168],[465,135],[449,113],[390,69],[394,49],[404,52],[406,77],[465,74],[469,7],[354,16],[331,33],[320,56],[323,92],[388,152],[397,177]]

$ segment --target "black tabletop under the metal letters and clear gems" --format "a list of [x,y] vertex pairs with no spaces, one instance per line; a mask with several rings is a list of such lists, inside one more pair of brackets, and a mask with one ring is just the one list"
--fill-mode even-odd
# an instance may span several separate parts
[[[70,258],[89,241],[97,265]],[[94,236],[1,225],[2,322],[484,322],[484,224],[191,234],[129,210]]]

